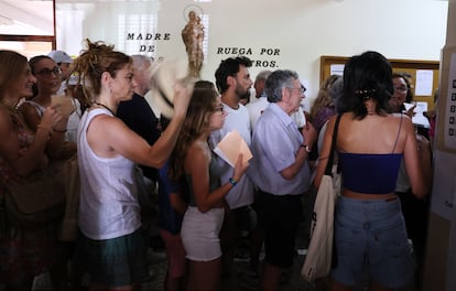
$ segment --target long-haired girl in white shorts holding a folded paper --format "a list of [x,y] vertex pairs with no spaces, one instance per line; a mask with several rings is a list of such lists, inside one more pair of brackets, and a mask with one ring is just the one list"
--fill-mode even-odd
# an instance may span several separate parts
[[217,159],[207,138],[220,129],[227,114],[209,82],[195,84],[184,128],[171,157],[171,177],[185,176],[189,205],[181,236],[189,260],[189,290],[219,290],[221,250],[218,234],[224,220],[224,201],[248,168],[240,154],[230,182],[220,185]]

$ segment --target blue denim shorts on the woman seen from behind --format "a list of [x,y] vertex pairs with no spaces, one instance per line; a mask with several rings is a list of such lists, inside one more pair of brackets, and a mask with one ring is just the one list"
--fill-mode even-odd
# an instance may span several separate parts
[[334,222],[337,265],[333,278],[355,285],[369,280],[388,288],[413,281],[415,262],[399,198],[354,200],[339,196]]

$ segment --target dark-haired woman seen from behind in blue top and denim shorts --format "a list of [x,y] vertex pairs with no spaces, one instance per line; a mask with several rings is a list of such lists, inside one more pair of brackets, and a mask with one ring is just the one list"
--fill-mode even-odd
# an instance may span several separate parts
[[[343,174],[335,213],[337,266],[332,290],[351,290],[369,273],[369,290],[391,290],[413,280],[414,261],[400,202],[394,194],[401,159],[413,193],[423,197],[431,184],[431,157],[417,154],[409,117],[390,115],[392,68],[377,52],[349,60],[344,69],[337,152]],[[335,117],[325,131],[315,176],[318,186],[330,151]]]

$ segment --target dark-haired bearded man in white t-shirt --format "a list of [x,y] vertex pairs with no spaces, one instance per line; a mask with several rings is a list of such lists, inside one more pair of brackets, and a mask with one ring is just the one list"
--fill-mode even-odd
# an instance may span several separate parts
[[[217,89],[221,94],[224,110],[228,114],[224,127],[213,131],[209,143],[213,148],[230,131],[238,131],[243,140],[250,146],[251,131],[250,119],[247,108],[239,103],[240,99],[250,95],[250,88],[253,84],[250,78],[248,68],[252,62],[245,56],[229,57],[221,61],[215,73]],[[229,182],[232,175],[231,166],[218,159],[221,168],[220,182]],[[232,289],[235,272],[232,271],[234,252],[236,249],[237,238],[241,231],[250,231],[256,226],[256,214],[250,205],[253,203],[253,184],[245,175],[236,183],[226,196],[225,219],[220,231],[220,245],[224,254],[222,273],[228,279],[226,282],[228,289]],[[231,290],[230,289],[230,290]]]

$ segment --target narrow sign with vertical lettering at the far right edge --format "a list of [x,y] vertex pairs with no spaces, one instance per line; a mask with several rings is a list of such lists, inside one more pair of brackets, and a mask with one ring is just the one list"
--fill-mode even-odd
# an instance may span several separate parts
[[456,53],[450,57],[445,110],[444,144],[446,148],[456,149]]

